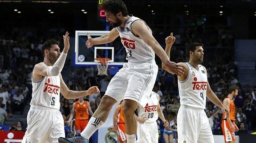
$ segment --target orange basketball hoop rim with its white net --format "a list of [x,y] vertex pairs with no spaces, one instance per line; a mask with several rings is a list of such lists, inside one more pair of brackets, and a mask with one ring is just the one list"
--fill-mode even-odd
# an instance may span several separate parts
[[95,58],[98,75],[107,75],[110,58]]

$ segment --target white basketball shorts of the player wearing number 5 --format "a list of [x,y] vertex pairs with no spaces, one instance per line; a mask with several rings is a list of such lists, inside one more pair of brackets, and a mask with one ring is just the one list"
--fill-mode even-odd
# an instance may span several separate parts
[[27,122],[22,143],[58,143],[59,137],[65,138],[64,120],[59,110],[32,105]]

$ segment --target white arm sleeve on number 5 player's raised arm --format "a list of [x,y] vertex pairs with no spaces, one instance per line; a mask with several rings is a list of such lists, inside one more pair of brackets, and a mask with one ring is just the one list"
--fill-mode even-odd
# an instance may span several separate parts
[[49,77],[51,76],[57,76],[59,73],[61,73],[61,70],[64,67],[65,60],[66,60],[67,54],[66,53],[61,53],[61,56],[57,59],[57,61],[53,64],[53,66],[49,66],[47,68],[47,75]]

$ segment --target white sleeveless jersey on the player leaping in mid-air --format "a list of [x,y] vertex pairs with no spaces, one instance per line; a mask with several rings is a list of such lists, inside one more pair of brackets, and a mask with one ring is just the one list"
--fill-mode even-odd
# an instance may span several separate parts
[[[121,38],[121,42],[126,48],[126,60],[128,60],[128,62],[143,62],[154,60],[154,50],[151,48],[151,46],[147,45],[140,37],[136,37],[132,33],[132,29],[130,26],[136,20],[142,19],[131,16],[126,21],[124,29],[122,29],[122,27],[116,27]],[[152,33],[149,27],[148,30],[150,30],[150,32]]]

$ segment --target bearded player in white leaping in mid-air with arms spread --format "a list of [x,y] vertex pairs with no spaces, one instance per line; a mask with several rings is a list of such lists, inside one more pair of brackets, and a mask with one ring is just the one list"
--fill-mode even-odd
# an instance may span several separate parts
[[101,9],[105,11],[106,22],[114,28],[107,34],[91,38],[88,34],[86,46],[113,42],[118,36],[126,48],[128,63],[116,73],[102,97],[98,109],[90,118],[81,135],[74,138],[60,138],[59,143],[88,142],[89,137],[106,121],[112,106],[123,100],[123,114],[126,121],[127,143],[135,143],[137,120],[134,111],[137,106],[145,107],[154,87],[158,66],[154,61],[155,53],[172,73],[183,75],[183,65],[171,62],[163,48],[154,39],[150,27],[138,17],[128,15],[122,0],[104,0]]

